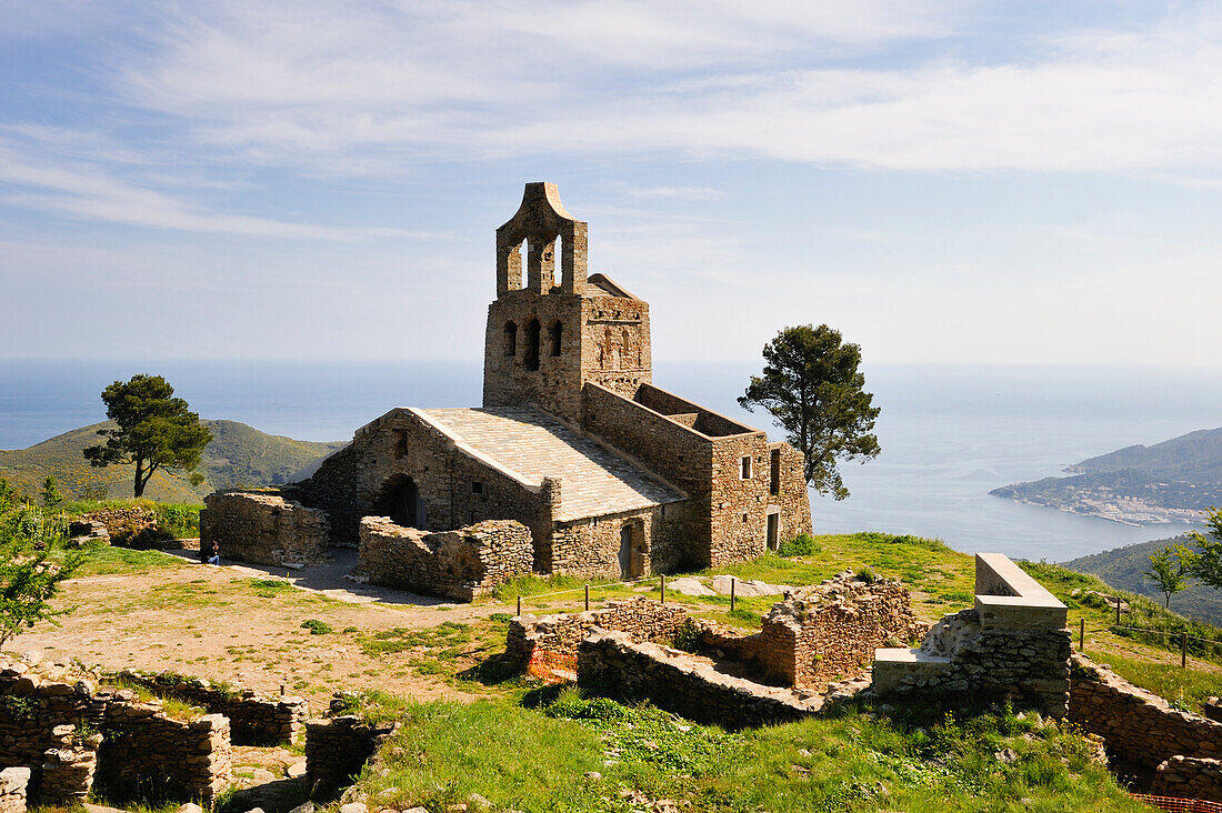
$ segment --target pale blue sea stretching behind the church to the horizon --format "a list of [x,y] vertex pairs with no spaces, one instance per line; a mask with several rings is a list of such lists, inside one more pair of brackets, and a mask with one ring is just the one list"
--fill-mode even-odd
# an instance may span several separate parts
[[[851,496],[811,493],[819,533],[881,531],[962,551],[1066,561],[1184,533],[1128,526],[989,495],[1085,457],[1222,425],[1222,369],[866,366],[882,454],[841,465]],[[759,363],[656,362],[654,381],[717,412],[783,433],[736,399]],[[343,440],[396,406],[474,406],[481,363],[308,361],[0,361],[0,449],[105,419],[99,394],[164,375],[204,418],[303,440]]]

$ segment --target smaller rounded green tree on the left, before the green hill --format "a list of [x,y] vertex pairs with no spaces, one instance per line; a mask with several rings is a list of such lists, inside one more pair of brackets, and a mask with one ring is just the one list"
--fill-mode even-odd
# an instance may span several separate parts
[[[182,399],[174,397],[174,388],[160,375],[133,375],[128,381],[115,381],[101,392],[106,417],[115,422],[112,429],[100,429],[106,443],[89,446],[84,456],[92,466],[131,463],[136,466],[134,496],[159,468],[194,472],[204,447],[213,434],[199,424],[199,416]],[[203,477],[192,476],[193,483]]]

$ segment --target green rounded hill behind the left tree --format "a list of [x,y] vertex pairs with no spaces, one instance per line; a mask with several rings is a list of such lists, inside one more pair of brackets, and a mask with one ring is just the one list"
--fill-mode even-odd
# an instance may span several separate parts
[[[170,502],[200,502],[205,494],[235,485],[276,485],[343,446],[342,441],[312,443],[269,435],[237,421],[203,421],[213,432],[204,450],[200,485],[186,477],[158,472],[144,491],[147,498]],[[92,468],[82,450],[101,443],[98,430],[111,425],[95,423],[44,440],[28,449],[0,451],[0,477],[34,495],[48,474],[55,477],[66,498],[84,496],[90,488],[106,488],[106,496],[132,495],[132,467]]]

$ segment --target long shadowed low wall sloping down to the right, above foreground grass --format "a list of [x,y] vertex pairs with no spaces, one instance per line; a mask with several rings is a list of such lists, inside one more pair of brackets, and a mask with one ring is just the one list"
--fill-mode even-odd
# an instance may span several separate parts
[[577,650],[578,686],[620,701],[649,699],[698,723],[731,729],[791,723],[818,712],[824,698],[719,672],[688,653],[637,643],[627,632],[596,630]]

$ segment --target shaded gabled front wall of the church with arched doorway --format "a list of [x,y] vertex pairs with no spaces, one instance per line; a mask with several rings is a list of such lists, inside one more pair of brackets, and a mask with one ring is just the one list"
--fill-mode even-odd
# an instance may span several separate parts
[[[425,504],[425,531],[518,520],[536,549],[550,540],[551,516],[536,490],[459,451],[411,410],[391,410],[357,429],[351,444],[291,488],[303,504],[327,513],[331,545],[358,548],[360,521],[389,515],[387,489],[408,477]],[[472,482],[483,484],[483,494],[473,493]]]

